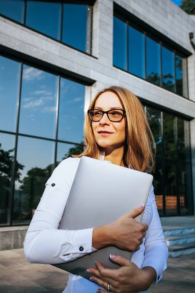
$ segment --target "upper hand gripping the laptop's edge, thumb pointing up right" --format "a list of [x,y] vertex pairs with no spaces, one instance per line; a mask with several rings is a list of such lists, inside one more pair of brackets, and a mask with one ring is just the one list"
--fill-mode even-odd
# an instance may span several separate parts
[[148,230],[148,225],[138,223],[135,218],[143,212],[144,208],[144,206],[138,207],[124,214],[112,224],[94,228],[93,248],[100,249],[106,246],[116,246],[126,251],[138,251]]

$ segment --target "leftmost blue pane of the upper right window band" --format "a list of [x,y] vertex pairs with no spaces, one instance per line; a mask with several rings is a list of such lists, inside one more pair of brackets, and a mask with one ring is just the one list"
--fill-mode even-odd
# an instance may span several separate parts
[[114,17],[113,65],[127,70],[127,24]]

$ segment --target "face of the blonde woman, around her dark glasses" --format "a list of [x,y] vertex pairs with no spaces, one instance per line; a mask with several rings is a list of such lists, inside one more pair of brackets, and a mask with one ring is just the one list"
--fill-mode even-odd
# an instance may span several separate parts
[[[108,111],[113,108],[124,109],[117,95],[105,92],[96,100],[94,108]],[[97,144],[103,149],[114,150],[124,146],[126,138],[126,118],[120,122],[111,122],[106,113],[98,122],[92,122],[92,130]]]

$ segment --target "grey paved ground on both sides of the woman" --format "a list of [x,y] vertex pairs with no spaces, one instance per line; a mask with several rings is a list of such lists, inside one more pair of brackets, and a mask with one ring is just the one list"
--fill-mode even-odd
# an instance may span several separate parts
[[[67,278],[53,266],[29,264],[23,249],[0,251],[0,293],[62,293]],[[149,293],[195,293],[195,253],[169,258],[163,280]]]

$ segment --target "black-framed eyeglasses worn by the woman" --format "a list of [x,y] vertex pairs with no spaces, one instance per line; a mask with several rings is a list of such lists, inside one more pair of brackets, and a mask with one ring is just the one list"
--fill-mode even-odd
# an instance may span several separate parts
[[102,111],[102,110],[99,110],[99,109],[89,109],[87,111],[87,113],[89,114],[89,118],[93,122],[100,121],[105,113],[108,116],[108,119],[110,121],[112,121],[112,122],[120,122],[124,117],[125,110],[112,109],[112,110],[108,110],[108,111]]

